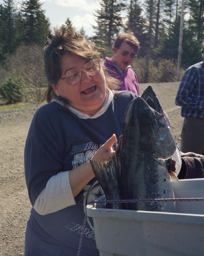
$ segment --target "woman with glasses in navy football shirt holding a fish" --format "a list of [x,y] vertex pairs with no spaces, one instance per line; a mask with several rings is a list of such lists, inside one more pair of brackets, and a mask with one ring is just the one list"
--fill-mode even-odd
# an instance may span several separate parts
[[[132,52],[131,52],[132,53]],[[49,35],[44,52],[47,104],[31,122],[25,144],[30,218],[26,256],[76,256],[88,202],[103,195],[89,160],[108,160],[122,133],[127,105],[94,43],[66,27]],[[81,256],[99,255],[88,218]]]

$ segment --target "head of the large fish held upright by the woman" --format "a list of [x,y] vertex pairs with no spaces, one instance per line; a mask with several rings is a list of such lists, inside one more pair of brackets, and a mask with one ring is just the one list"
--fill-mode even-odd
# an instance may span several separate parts
[[123,141],[131,140],[145,153],[168,159],[176,150],[174,135],[163,114],[137,97],[128,105],[123,122]]

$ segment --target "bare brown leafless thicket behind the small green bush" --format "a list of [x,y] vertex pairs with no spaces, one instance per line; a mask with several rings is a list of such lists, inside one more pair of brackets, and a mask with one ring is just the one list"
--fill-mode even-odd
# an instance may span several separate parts
[[47,79],[44,69],[43,50],[36,44],[21,45],[8,55],[6,64],[0,66],[0,83],[7,77],[21,77],[23,101],[41,103],[45,100]]

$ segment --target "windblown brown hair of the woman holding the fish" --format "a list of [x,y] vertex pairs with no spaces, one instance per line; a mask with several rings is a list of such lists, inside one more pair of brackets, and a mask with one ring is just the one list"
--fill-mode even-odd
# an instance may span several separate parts
[[[66,53],[77,54],[90,61],[97,60],[101,62],[102,58],[99,48],[82,34],[67,27],[54,28],[54,34],[49,34],[46,37],[46,46],[44,47],[44,67],[48,81],[46,100],[48,102],[56,96],[51,84],[56,84],[62,77],[60,64]],[[102,65],[101,69],[104,69]],[[106,71],[105,78],[106,85],[111,90],[118,88],[118,80],[113,79]]]

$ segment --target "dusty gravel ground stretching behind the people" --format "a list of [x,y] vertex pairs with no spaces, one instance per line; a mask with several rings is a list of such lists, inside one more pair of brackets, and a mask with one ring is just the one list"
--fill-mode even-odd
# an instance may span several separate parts
[[[174,103],[179,83],[140,84],[141,94],[148,85],[168,114],[180,145],[183,118]],[[24,179],[24,145],[32,117],[41,105],[0,110],[0,256],[24,255],[31,208]]]

